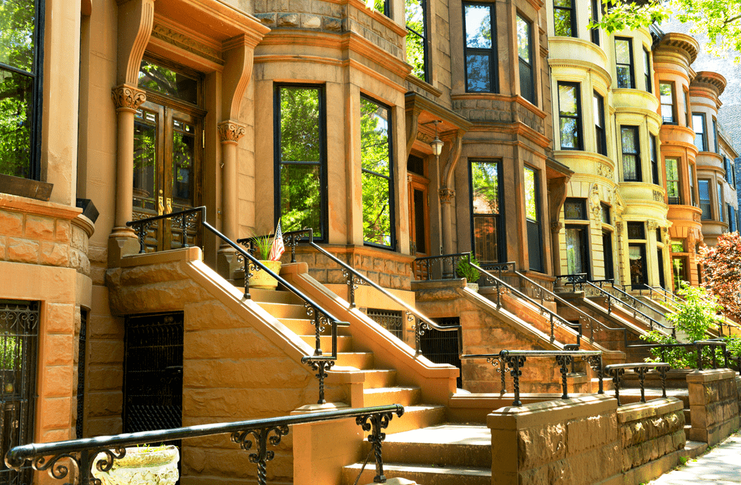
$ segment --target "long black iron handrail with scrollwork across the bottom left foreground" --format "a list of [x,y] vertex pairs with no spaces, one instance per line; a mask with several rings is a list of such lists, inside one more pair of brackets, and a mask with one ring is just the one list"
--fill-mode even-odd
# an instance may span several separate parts
[[[388,427],[393,414],[403,415],[404,407],[400,404],[388,404],[386,406],[341,409],[279,418],[199,424],[182,428],[122,433],[120,435],[56,441],[54,443],[24,444],[15,446],[7,452],[5,464],[12,469],[19,469],[21,466],[30,463],[36,471],[46,471],[51,478],[57,480],[66,478],[71,468],[74,470],[73,475],[79,477],[79,483],[82,485],[99,484],[99,481],[92,476],[93,463],[96,462],[96,468],[101,472],[110,471],[114,462],[126,455],[126,446],[160,444],[165,441],[230,433],[230,441],[239,444],[241,449],[248,451],[253,449],[254,445],[254,452],[250,453],[249,460],[250,463],[257,464],[258,484],[265,485],[267,483],[267,464],[268,461],[273,459],[274,455],[272,450],[268,450],[268,444],[272,446],[280,444],[281,438],[288,435],[288,427],[319,421],[355,418],[356,424],[362,427],[364,431],[371,432],[368,435],[368,441],[373,446],[376,458],[376,478],[374,482],[383,483],[386,478],[383,472],[381,455],[382,442],[385,439],[385,433],[382,432],[382,429]],[[104,457],[96,461],[99,453],[102,453]],[[62,460],[65,461],[59,463]]]

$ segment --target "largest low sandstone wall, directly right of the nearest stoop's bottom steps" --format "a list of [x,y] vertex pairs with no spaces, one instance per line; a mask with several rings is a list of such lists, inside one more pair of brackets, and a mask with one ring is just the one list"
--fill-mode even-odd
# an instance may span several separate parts
[[594,395],[497,409],[487,417],[493,483],[622,483],[616,413],[614,398]]

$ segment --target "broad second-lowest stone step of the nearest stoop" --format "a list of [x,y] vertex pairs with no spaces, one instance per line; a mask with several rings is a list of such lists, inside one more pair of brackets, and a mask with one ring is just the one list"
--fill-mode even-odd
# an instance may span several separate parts
[[[365,446],[363,456],[370,444]],[[396,464],[429,464],[436,468],[491,469],[491,431],[483,425],[439,424],[386,435],[383,460]]]

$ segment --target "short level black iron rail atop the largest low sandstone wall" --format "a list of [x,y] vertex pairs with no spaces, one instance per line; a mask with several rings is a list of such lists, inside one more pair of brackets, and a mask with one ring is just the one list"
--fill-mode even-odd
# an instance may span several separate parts
[[[564,346],[572,347],[572,346]],[[561,387],[563,390],[562,399],[568,399],[568,387],[566,377],[569,372],[569,364],[573,366],[574,358],[581,357],[582,361],[586,361],[589,366],[597,371],[599,377],[599,392],[598,394],[604,394],[605,389],[602,387],[602,352],[599,350],[576,350],[576,349],[564,349],[564,350],[502,350],[498,354],[465,354],[461,355],[462,359],[480,359],[484,358],[493,367],[499,367],[496,372],[499,372],[502,376],[502,394],[506,391],[505,388],[505,374],[510,372],[512,376],[512,387],[514,388],[514,401],[513,406],[522,406],[522,401],[519,400],[519,376],[522,375],[522,367],[525,365],[525,360],[528,357],[554,357],[556,358],[556,365],[560,366],[561,372]],[[571,372],[574,372],[572,367]]]

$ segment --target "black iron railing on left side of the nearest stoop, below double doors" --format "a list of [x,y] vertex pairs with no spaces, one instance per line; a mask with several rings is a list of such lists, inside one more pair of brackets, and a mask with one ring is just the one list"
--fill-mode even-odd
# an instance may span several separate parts
[[[288,283],[284,278],[282,278],[280,275],[276,274],[275,272],[271,271],[266,267],[264,264],[262,264],[257,258],[255,258],[253,255],[250,254],[247,250],[240,247],[238,244],[236,244],[234,241],[232,241],[230,238],[227,238],[226,235],[219,232],[219,230],[216,229],[216,227],[213,227],[211,224],[208,224],[206,221],[206,207],[196,207],[195,209],[190,210],[184,210],[179,213],[172,213],[172,214],[165,214],[165,215],[158,215],[154,218],[147,218],[147,219],[140,219],[139,221],[129,221],[126,223],[127,226],[133,227],[134,232],[136,232],[137,235],[139,235],[139,244],[142,247],[141,252],[146,252],[144,247],[144,240],[147,235],[146,230],[142,230],[142,227],[147,227],[147,224],[150,224],[151,221],[156,221],[163,218],[183,218],[185,215],[193,214],[193,213],[200,213],[200,224],[205,229],[209,230],[211,233],[216,235],[216,238],[221,239],[224,241],[227,246],[231,247],[236,255],[237,261],[239,264],[243,264],[243,266],[240,268],[240,270],[243,270],[245,272],[245,299],[250,298],[250,277],[258,271],[265,271],[270,275],[271,277],[275,278],[279,284],[282,285],[282,287],[285,287],[288,291],[292,292],[294,295],[298,296],[299,298],[304,301],[304,307],[306,309],[306,314],[309,318],[313,319],[314,324],[314,334],[316,337],[315,346],[314,346],[314,353],[313,355],[306,355],[304,358],[302,358],[302,362],[304,364],[307,364],[313,371],[316,371],[316,378],[319,379],[319,404],[325,404],[325,378],[327,378],[328,374],[327,371],[333,367],[337,360],[337,330],[339,327],[348,327],[350,324],[345,321],[339,321],[339,319],[335,318],[330,312],[319,306],[316,302],[314,302],[311,298],[309,298],[307,295],[305,295],[301,290],[294,287],[292,284]],[[322,344],[321,344],[321,337],[322,334],[324,334],[326,330],[326,326],[331,326],[331,332],[332,332],[332,352],[330,355],[325,354],[325,352],[322,350]]]

